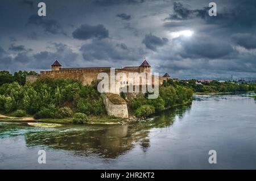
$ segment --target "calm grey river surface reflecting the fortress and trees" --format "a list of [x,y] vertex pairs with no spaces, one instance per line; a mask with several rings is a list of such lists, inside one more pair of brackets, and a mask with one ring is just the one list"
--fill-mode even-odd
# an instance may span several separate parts
[[[46,164],[38,163],[41,149]],[[0,169],[256,169],[256,102],[249,94],[198,95],[129,125],[0,123]]]

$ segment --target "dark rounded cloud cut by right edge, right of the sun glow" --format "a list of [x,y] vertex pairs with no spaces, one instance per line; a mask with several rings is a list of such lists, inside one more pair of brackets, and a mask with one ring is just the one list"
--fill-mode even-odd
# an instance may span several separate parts
[[256,48],[256,36],[249,33],[237,33],[232,36],[233,41],[246,49]]

